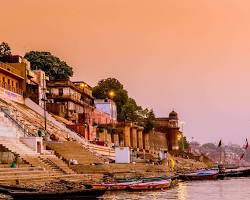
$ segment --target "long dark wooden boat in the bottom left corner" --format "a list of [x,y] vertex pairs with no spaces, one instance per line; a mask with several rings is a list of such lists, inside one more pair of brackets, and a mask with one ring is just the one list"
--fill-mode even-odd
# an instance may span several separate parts
[[0,188],[0,192],[10,195],[13,199],[96,199],[103,195],[106,190],[82,189],[68,190],[60,192],[50,191],[27,191],[27,190],[11,190]]

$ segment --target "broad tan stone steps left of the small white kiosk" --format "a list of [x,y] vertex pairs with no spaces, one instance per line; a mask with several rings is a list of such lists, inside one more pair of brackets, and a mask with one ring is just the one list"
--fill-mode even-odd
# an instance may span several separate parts
[[96,156],[76,141],[48,142],[46,147],[53,150],[56,155],[62,157],[67,162],[77,160],[78,164],[82,165],[104,163],[104,159]]

